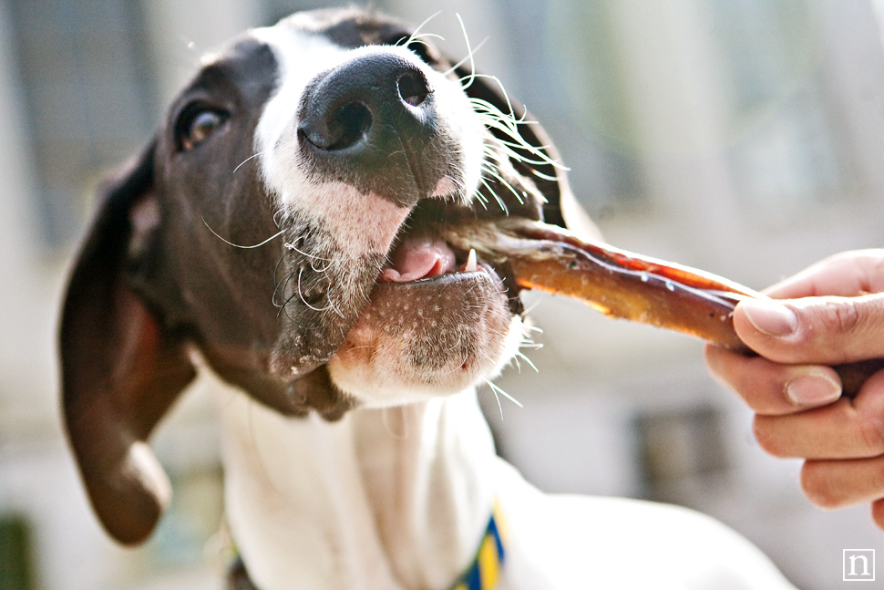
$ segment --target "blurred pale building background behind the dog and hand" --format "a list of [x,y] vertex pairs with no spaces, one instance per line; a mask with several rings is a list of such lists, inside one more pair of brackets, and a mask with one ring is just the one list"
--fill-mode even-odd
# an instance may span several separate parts
[[[149,140],[200,55],[296,0],[0,0],[0,588],[220,588],[221,465],[190,392],[154,445],[170,512],[111,543],[62,434],[60,294],[99,179]],[[385,0],[499,76],[543,122],[607,240],[762,288],[882,245],[884,46],[874,0]],[[842,550],[880,548],[868,507],[813,508],[797,461],[758,449],[701,345],[532,296],[542,348],[479,392],[501,453],[549,492],[713,514],[797,585],[841,585]],[[208,549],[207,549],[208,547]]]

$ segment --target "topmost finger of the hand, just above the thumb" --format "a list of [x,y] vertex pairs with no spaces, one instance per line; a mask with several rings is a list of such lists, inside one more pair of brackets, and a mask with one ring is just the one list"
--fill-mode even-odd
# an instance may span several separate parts
[[765,289],[776,299],[822,295],[855,297],[884,292],[884,249],[856,250],[829,256]]

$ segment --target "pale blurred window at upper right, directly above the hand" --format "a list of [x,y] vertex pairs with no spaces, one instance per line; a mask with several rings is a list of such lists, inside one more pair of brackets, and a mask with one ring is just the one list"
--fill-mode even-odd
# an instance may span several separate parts
[[811,7],[801,0],[705,0],[731,84],[731,167],[747,204],[787,212],[841,186]]

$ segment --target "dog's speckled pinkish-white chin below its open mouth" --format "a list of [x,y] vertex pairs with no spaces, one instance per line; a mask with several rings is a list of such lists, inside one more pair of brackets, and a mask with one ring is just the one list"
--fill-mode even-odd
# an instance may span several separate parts
[[495,377],[518,351],[522,330],[498,275],[484,264],[382,282],[328,370],[367,408],[447,396]]

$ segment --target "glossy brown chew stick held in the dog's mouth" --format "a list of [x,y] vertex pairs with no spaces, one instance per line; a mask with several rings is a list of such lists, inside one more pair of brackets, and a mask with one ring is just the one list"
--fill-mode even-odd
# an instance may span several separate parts
[[[734,308],[765,297],[743,285],[694,268],[581,241],[560,227],[507,218],[452,230],[457,248],[509,267],[516,283],[579,299],[601,313],[664,327],[743,354],[754,354],[736,336]],[[844,393],[856,395],[884,359],[835,367]]]

